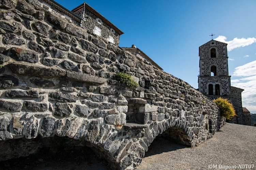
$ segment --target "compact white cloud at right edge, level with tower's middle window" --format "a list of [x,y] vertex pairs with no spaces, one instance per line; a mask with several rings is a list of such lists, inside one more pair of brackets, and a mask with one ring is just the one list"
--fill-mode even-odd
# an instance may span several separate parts
[[256,60],[235,68],[233,76],[245,77],[256,75]]

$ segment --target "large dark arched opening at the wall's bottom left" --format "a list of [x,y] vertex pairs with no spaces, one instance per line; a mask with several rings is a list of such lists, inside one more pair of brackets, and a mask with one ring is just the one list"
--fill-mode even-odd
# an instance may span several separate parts
[[99,158],[92,148],[85,140],[56,135],[0,141],[0,169],[75,169],[76,163],[87,167],[92,162],[96,163],[90,168],[105,169],[106,161]]

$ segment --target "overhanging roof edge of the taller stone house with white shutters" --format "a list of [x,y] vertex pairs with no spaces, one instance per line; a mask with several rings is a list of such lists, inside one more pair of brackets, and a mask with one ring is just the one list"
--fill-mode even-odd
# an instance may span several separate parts
[[103,22],[107,23],[110,27],[112,27],[112,29],[114,29],[119,35],[124,34],[119,28],[117,28],[114,24],[112,24],[109,20],[107,20],[104,16],[102,16],[99,12],[97,12],[96,10],[94,10],[94,8],[92,8],[90,5],[88,5],[86,2],[82,3],[81,5],[77,6],[76,8],[74,8],[73,10],[71,10],[72,12],[76,12],[78,10],[80,10],[81,8],[86,8],[88,11],[90,11],[93,15],[95,15],[96,17],[100,18]]

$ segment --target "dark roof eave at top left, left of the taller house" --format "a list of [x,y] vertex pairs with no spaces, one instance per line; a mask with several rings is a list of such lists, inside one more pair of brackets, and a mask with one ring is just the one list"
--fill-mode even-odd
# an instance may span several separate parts
[[64,6],[60,5],[59,3],[53,1],[53,0],[42,0],[43,2],[48,3],[49,5],[51,5],[52,7],[54,7],[56,10],[66,14],[67,16],[71,17],[72,19],[81,22],[82,18],[78,17],[77,15],[75,15],[73,12],[69,11],[67,8],[65,8]]

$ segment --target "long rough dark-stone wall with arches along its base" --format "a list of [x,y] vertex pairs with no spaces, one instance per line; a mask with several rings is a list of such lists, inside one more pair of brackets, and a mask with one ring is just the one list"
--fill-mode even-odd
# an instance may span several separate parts
[[[133,169],[157,135],[195,146],[223,125],[219,108],[189,84],[43,3],[0,1],[1,161],[33,153],[32,138],[57,135],[86,141],[113,169]],[[120,71],[139,87],[114,80]]]

